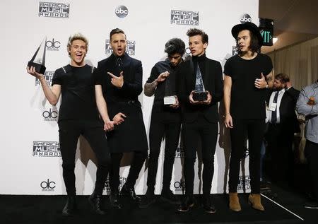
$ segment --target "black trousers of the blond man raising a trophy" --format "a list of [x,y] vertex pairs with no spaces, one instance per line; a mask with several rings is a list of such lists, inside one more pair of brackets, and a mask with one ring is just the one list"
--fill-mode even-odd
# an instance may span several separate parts
[[83,135],[98,159],[95,193],[101,195],[110,167],[107,138],[99,120],[62,120],[59,122],[59,143],[63,160],[63,179],[68,195],[75,195],[75,154],[78,137]]

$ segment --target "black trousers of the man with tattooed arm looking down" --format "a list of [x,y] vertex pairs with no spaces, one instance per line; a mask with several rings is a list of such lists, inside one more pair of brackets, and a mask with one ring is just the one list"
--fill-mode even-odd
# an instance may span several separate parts
[[158,171],[160,146],[165,137],[165,161],[163,163],[163,191],[170,189],[175,151],[179,143],[180,122],[157,122],[151,120],[149,131],[150,153],[148,163],[148,192],[154,193],[155,178]]

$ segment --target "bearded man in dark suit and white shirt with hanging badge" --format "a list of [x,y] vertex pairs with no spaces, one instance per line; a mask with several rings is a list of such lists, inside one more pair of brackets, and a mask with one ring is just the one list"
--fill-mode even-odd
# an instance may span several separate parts
[[300,132],[295,106],[300,91],[291,86],[289,76],[275,76],[273,90],[266,102],[269,105],[269,129],[266,133],[268,151],[271,154],[272,181],[293,181],[293,138]]

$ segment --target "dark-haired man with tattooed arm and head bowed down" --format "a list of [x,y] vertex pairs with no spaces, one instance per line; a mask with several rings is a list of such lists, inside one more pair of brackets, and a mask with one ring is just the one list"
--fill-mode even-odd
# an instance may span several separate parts
[[[175,93],[175,71],[185,52],[185,45],[179,38],[168,40],[165,44],[167,59],[159,61],[151,69],[151,76],[145,84],[145,95],[155,94],[151,112],[149,131],[150,154],[148,163],[148,179],[146,196],[140,207],[146,208],[155,202],[155,177],[158,170],[160,146],[165,138],[165,162],[163,164],[163,190],[161,196],[165,201],[177,204],[178,200],[170,190],[172,168],[175,161],[175,151],[179,143],[181,112]],[[172,98],[172,102],[167,102]]]

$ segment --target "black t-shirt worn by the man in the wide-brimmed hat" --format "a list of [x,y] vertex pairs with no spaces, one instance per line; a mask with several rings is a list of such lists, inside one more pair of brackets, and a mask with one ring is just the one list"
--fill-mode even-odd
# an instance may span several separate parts
[[224,73],[232,78],[230,114],[237,119],[265,119],[266,89],[254,86],[261,73],[267,76],[273,69],[271,58],[257,54],[251,60],[238,55],[230,57],[224,66]]

